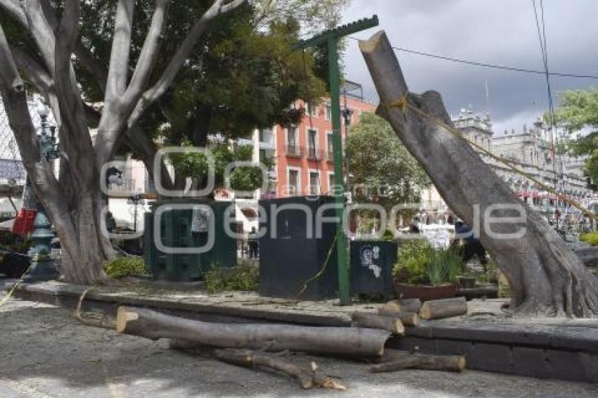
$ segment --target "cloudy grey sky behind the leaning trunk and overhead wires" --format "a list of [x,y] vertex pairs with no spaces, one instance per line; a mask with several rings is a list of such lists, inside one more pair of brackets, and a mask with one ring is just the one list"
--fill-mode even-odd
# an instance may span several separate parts
[[[536,3],[539,4],[540,0]],[[544,0],[549,70],[598,75],[598,1]],[[344,22],[371,16],[380,27],[353,35],[367,38],[386,30],[395,46],[481,63],[542,70],[531,0],[352,0]],[[471,105],[486,108],[485,82],[495,133],[521,129],[547,109],[545,77],[452,63],[398,52],[409,89],[434,89],[450,113]],[[348,40],[348,79],[361,82],[376,100],[357,41]],[[554,93],[598,86],[596,79],[551,77]],[[556,96],[556,94],[555,94]],[[555,98],[556,100],[556,98]]]

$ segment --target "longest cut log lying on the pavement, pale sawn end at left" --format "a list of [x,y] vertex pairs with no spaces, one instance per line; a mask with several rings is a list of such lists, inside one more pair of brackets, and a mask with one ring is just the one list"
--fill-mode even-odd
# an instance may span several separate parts
[[151,309],[119,307],[119,333],[152,340],[182,339],[220,348],[286,349],[317,354],[379,357],[390,332],[365,328],[330,328],[267,323],[210,323],[180,318]]

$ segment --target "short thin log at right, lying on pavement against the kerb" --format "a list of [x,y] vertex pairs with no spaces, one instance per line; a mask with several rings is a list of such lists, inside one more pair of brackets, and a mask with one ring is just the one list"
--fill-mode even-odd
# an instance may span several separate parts
[[411,354],[393,351],[389,360],[381,364],[369,366],[372,373],[402,371],[405,369],[421,369],[424,371],[462,372],[466,359],[459,355]]

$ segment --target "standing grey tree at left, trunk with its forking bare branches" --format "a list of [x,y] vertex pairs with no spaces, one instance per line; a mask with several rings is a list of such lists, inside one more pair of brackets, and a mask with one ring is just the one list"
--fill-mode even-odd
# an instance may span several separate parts
[[[129,127],[133,131],[132,136],[139,134],[136,121],[148,104],[157,101],[169,88],[210,23],[243,2],[215,0],[191,28],[158,82],[148,88],[148,78],[159,56],[161,33],[167,25],[169,0],[155,0],[151,26],[128,84],[134,1],[118,1],[113,52],[110,68],[106,71],[94,60],[93,53],[82,46],[77,23],[79,1],[63,1],[58,20],[54,4],[48,0],[0,0],[2,12],[6,11],[32,37],[40,56],[39,63],[19,51],[15,51],[13,56],[0,26],[0,92],[4,108],[27,176],[61,239],[61,274],[65,281],[101,283],[106,280],[102,262],[113,256],[113,250],[101,229],[101,214],[107,205],[100,191],[101,168],[113,157]],[[98,81],[98,86],[105,90],[95,144],[91,141],[83,98],[72,66],[73,53]],[[25,84],[20,78],[15,58],[30,82],[48,99],[58,122],[61,146],[58,179],[53,174],[51,162],[40,154],[27,106]],[[137,143],[143,155],[151,155],[153,148],[147,140]],[[167,181],[163,165],[160,176],[163,182]]]

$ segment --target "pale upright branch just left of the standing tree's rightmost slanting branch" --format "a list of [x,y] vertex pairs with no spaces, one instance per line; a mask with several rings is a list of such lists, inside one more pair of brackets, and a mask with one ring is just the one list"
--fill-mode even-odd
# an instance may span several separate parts
[[158,56],[160,48],[160,38],[164,30],[167,19],[168,6],[170,0],[155,0],[155,11],[151,20],[144,46],[141,48],[139,59],[135,66],[131,82],[122,98],[122,102],[127,106],[136,102],[146,87],[147,81],[153,70],[155,58]]

